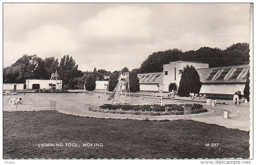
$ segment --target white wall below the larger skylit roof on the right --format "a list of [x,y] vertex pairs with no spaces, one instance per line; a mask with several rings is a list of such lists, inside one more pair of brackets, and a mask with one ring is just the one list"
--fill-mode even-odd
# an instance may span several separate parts
[[216,93],[233,95],[238,90],[243,95],[245,83],[243,84],[203,84],[200,93]]

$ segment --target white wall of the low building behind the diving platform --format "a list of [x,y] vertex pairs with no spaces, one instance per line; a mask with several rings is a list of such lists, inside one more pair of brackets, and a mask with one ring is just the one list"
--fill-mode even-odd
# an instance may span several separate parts
[[[26,80],[27,89],[32,89],[33,84],[40,84],[40,89],[46,88],[48,89],[48,84],[53,83],[56,84],[56,80]],[[62,80],[58,80],[59,87],[56,84],[56,89],[62,89]]]

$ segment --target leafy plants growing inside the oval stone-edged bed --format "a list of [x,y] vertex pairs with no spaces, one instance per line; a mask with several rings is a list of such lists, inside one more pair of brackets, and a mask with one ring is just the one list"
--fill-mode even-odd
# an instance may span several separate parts
[[161,105],[101,105],[101,109],[111,110],[130,110],[130,111],[154,111],[154,112],[173,112],[173,111],[184,111],[183,107],[191,107],[191,110],[202,110],[204,109],[201,104],[165,104]]

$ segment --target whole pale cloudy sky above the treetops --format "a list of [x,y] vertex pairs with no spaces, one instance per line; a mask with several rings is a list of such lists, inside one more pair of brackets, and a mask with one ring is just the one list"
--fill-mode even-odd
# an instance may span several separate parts
[[153,52],[249,43],[242,3],[4,3],[3,67],[72,56],[82,71],[139,68]]

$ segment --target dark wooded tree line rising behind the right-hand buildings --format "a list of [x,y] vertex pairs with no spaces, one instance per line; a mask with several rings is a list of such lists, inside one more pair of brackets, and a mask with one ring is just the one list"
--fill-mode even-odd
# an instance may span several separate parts
[[209,63],[209,67],[248,64],[249,51],[248,43],[236,43],[225,50],[201,47],[196,51],[182,52],[178,49],[169,49],[149,55],[142,62],[138,73],[163,72],[163,64],[180,60]]

